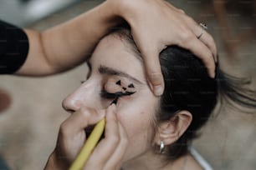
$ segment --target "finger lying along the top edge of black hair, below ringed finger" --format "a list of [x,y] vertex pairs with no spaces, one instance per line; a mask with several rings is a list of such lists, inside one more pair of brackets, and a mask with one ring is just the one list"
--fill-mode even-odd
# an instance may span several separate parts
[[215,62],[210,49],[197,37],[191,37],[189,41],[178,44],[180,47],[187,48],[199,57],[207,67],[207,72],[210,77],[215,77]]

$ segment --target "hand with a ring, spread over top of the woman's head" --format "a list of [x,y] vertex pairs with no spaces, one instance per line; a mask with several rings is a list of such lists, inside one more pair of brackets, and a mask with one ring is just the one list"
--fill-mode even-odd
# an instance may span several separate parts
[[182,10],[164,0],[108,1],[118,4],[117,15],[131,25],[132,36],[142,53],[147,77],[156,95],[161,95],[164,87],[158,56],[169,45],[184,47],[196,54],[206,65],[209,75],[214,77],[212,55],[217,56],[217,49],[213,38],[204,31],[197,39],[202,28]]

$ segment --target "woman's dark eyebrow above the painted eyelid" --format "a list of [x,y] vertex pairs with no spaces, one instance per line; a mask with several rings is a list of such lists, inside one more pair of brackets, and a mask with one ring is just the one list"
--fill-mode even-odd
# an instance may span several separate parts
[[127,74],[126,72],[122,72],[120,70],[116,70],[116,69],[111,68],[111,67],[106,67],[106,66],[100,65],[100,67],[98,68],[98,71],[100,72],[100,74],[115,75],[115,76],[120,76],[120,77],[127,77],[127,78],[129,78],[131,80],[134,80],[135,82],[143,84],[143,82],[141,82],[140,80],[136,79],[135,77],[132,77],[131,75]]

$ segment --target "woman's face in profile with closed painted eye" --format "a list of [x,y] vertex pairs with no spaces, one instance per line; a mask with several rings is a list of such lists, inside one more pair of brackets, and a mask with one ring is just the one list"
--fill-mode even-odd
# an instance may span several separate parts
[[120,37],[104,37],[90,57],[90,72],[86,82],[64,99],[64,107],[76,111],[79,107],[106,108],[115,98],[102,93],[134,92],[118,99],[117,117],[125,128],[129,146],[125,160],[136,158],[151,148],[154,138],[153,119],[157,97],[146,82],[141,58]]

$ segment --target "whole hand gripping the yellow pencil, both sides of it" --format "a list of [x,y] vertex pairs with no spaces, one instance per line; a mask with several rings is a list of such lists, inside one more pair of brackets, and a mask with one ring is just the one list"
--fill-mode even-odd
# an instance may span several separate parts
[[117,170],[127,138],[125,130],[116,117],[115,105],[107,110],[97,112],[95,109],[84,107],[66,119],[60,126],[59,137],[45,170],[68,169],[83,147],[86,138],[84,128],[99,122],[105,116],[105,138],[96,146],[84,165],[86,170]]

